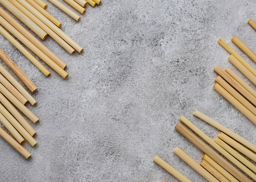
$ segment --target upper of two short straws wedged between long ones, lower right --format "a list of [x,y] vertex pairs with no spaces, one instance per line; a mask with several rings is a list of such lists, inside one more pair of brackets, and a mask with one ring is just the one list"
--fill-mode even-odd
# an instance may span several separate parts
[[253,153],[252,151],[250,151],[249,149],[247,149],[246,147],[244,147],[243,145],[241,145],[240,143],[238,143],[236,140],[230,138],[229,136],[227,136],[225,133],[220,132],[220,134],[218,135],[218,138],[220,138],[221,140],[223,140],[225,143],[227,143],[228,145],[230,145],[231,147],[233,147],[234,149],[240,151],[241,153],[243,153],[245,156],[247,156],[248,158],[252,159],[254,162],[256,162],[256,154]]

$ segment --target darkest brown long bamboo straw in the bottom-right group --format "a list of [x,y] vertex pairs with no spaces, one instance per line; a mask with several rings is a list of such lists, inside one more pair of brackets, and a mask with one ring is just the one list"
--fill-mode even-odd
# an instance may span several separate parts
[[[213,151],[208,145],[206,145],[202,140],[200,140],[197,136],[195,136],[192,132],[189,131],[184,125],[178,123],[175,126],[175,129],[180,132],[184,137],[186,137],[191,143],[193,143],[198,149],[202,152],[206,153],[213,160],[218,161],[222,167],[224,167],[231,175],[243,182],[250,182],[250,180],[243,175],[240,171],[238,171],[233,165],[231,165],[227,160],[222,158],[218,153]],[[238,161],[239,162],[239,161]],[[239,162],[240,163],[240,162]],[[249,170],[249,169],[248,169]]]

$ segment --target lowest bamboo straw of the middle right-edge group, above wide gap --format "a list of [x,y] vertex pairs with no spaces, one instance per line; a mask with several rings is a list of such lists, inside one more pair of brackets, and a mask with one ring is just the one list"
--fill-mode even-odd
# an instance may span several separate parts
[[218,83],[216,83],[213,88],[217,90],[225,99],[227,99],[232,105],[234,105],[240,112],[242,112],[250,121],[256,124],[256,116],[249,111],[243,104],[241,104],[234,96],[229,94],[227,90],[222,88]]

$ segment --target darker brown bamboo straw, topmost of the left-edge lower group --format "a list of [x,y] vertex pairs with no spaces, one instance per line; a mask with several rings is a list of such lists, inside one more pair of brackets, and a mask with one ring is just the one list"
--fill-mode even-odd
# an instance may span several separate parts
[[37,87],[34,83],[25,75],[22,70],[4,53],[4,51],[0,48],[0,58],[4,61],[5,64],[20,78],[20,80],[29,88],[31,92],[37,90]]

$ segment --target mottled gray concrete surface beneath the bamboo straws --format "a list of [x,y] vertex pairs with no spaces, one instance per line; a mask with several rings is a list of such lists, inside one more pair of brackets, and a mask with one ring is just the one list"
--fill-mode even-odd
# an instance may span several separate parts
[[38,86],[37,105],[27,107],[40,118],[31,123],[38,144],[22,144],[30,159],[0,138],[0,181],[177,182],[155,155],[190,180],[206,181],[173,153],[179,146],[197,162],[203,155],[175,131],[181,115],[218,135],[193,116],[195,109],[256,144],[255,125],[212,88],[217,64],[245,79],[220,37],[256,67],[231,42],[237,35],[256,50],[256,31],[247,24],[256,20],[253,0],[103,0],[87,5],[79,22],[47,4],[84,52],[69,55],[47,37],[43,44],[67,63],[70,76],[51,70],[45,77],[0,36],[1,48]]

